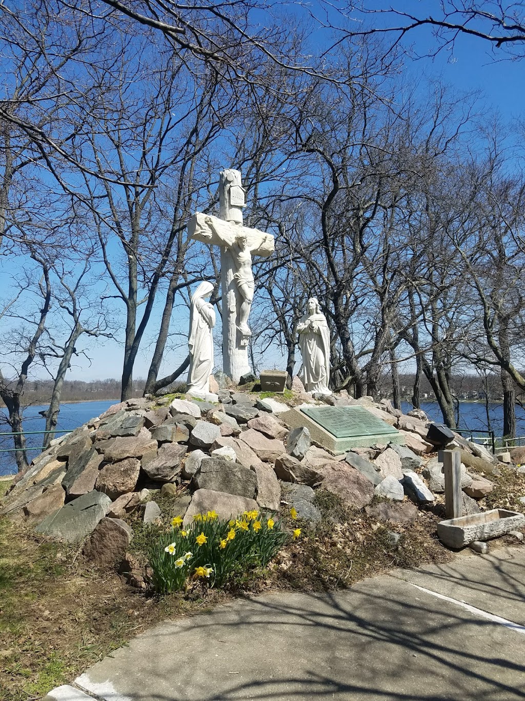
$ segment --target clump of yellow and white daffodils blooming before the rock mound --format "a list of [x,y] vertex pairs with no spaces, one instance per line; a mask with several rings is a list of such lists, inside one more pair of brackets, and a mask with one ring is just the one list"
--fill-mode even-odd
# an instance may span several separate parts
[[[300,530],[293,532],[293,538]],[[202,580],[221,587],[249,570],[264,567],[288,540],[274,515],[245,511],[235,519],[220,519],[214,511],[198,514],[183,529],[177,516],[172,528],[149,554],[155,589],[177,592]]]

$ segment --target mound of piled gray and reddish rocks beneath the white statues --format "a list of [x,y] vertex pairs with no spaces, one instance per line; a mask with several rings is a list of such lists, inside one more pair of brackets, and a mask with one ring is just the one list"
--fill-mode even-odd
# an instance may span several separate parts
[[[479,472],[496,472],[497,459],[431,424],[422,411],[405,416],[390,402],[353,400],[346,393],[312,398],[294,382],[292,404],[360,404],[398,428],[405,445],[378,444],[333,456],[311,444],[307,428],[290,430],[284,424],[279,415],[288,404],[235,389],[218,390],[219,402],[213,404],[189,398],[128,400],[54,440],[15,477],[1,514],[72,543],[90,536],[85,552],[109,562],[133,536],[125,523],[130,512],[140,509],[146,522],[159,519],[155,489],[176,495],[188,486],[173,514],[184,524],[208,510],[230,517],[244,510],[276,511],[281,504],[316,521],[319,486],[350,507],[407,522],[416,517],[416,506],[433,504],[435,494],[444,491],[442,465],[431,454],[445,447],[461,450],[466,512],[477,510],[475,500],[491,491],[491,482]],[[370,505],[374,495],[386,501]],[[111,552],[103,557],[104,549]]]

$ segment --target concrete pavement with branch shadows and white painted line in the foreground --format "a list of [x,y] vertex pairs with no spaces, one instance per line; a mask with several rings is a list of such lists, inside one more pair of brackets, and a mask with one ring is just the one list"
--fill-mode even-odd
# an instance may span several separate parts
[[460,555],[164,622],[46,700],[525,699],[524,622],[525,547]]

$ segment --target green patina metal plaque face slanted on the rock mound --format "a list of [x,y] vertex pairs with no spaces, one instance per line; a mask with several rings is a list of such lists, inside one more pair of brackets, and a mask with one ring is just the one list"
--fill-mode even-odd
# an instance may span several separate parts
[[363,407],[300,407],[312,421],[336,438],[397,433],[395,428]]

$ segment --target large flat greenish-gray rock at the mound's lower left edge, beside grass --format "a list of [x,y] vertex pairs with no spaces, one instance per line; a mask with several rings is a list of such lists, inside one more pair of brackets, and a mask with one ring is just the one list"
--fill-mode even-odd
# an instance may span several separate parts
[[46,516],[36,526],[35,531],[45,536],[66,540],[68,543],[78,543],[92,533],[110,507],[109,496],[93,490]]

